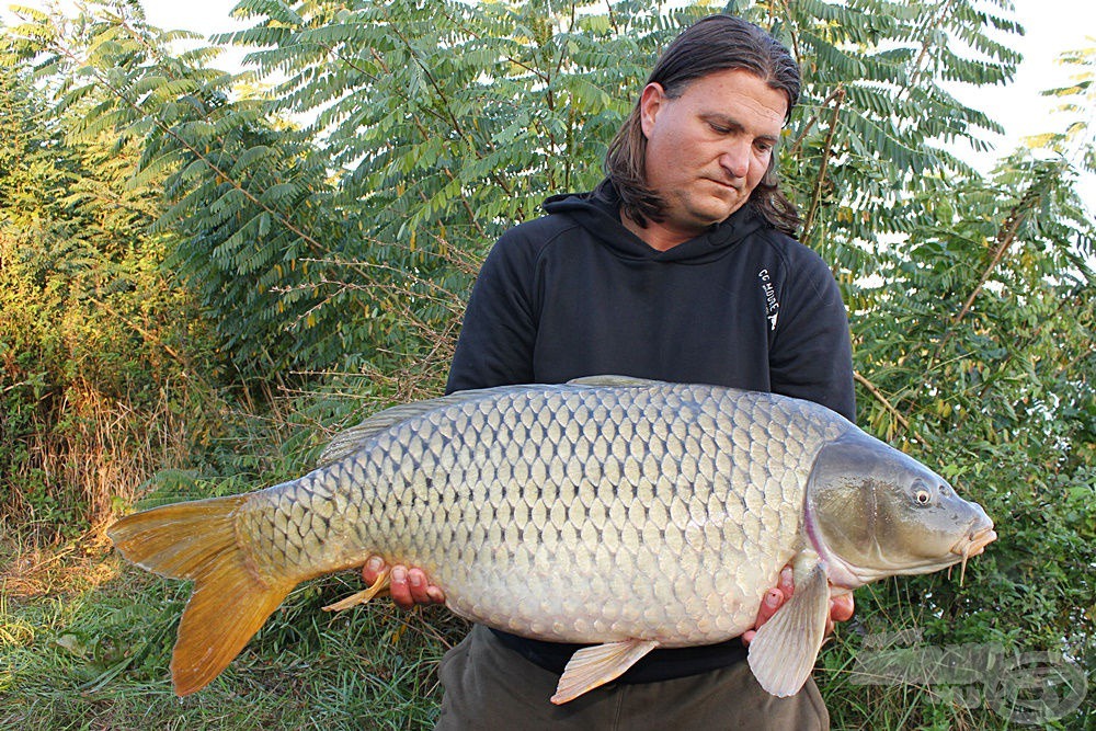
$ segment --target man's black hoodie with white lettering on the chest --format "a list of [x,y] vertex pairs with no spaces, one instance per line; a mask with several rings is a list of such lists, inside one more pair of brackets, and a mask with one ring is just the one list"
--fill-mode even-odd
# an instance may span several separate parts
[[[752,204],[669,251],[624,227],[607,183],[544,207],[546,217],[509,230],[483,263],[447,392],[616,374],[772,391],[855,420],[837,284]],[[580,647],[495,635],[556,673]],[[617,682],[683,677],[744,656],[738,639],[657,650]]]

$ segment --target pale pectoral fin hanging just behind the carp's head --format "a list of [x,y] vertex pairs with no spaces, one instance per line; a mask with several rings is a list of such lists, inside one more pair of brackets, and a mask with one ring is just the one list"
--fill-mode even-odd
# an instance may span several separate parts
[[780,698],[799,693],[814,669],[829,614],[830,582],[815,564],[750,642],[750,670],[761,687]]

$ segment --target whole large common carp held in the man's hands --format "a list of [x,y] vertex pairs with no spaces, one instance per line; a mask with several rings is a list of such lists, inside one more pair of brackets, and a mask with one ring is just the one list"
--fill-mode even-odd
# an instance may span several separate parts
[[553,703],[657,647],[741,635],[789,562],[795,594],[749,663],[767,692],[795,694],[831,593],[966,567],[996,538],[943,478],[817,403],[617,376],[398,406],[296,480],[129,515],[109,535],[141,567],[195,582],[171,662],[180,696],[298,583],[378,555],[421,567],[467,619],[592,643]]

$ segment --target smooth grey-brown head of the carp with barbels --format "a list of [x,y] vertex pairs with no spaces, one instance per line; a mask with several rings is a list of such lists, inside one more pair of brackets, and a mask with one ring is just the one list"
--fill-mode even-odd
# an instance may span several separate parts
[[858,586],[929,573],[981,553],[997,534],[982,506],[947,480],[860,430],[819,452],[807,532],[834,583]]

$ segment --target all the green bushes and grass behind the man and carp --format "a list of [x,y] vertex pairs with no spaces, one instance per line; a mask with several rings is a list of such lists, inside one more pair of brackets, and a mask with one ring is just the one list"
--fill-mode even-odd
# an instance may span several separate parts
[[[597,182],[658,50],[723,8],[243,0],[246,30],[189,50],[137,1],[18,10],[0,27],[0,726],[429,727],[463,628],[321,612],[353,574],[298,589],[180,703],[187,589],[124,566],[103,528],[295,477],[339,429],[436,395],[494,238]],[[949,90],[1012,78],[1008,0],[726,8],[803,69],[781,174],[844,288],[859,423],[1001,534],[962,582],[858,592],[815,673],[835,728],[1096,728],[1096,225],[1077,193],[1096,47],[1063,49],[1062,128],[983,174],[948,150],[998,122]],[[219,70],[225,47],[250,70]]]

